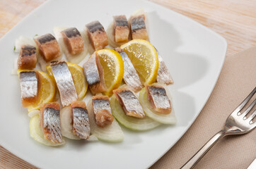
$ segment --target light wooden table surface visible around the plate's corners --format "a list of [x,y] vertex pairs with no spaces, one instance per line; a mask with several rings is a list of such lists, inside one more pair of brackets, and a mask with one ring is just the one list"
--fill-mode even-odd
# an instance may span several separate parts
[[[45,0],[0,0],[0,37]],[[150,0],[186,15],[226,38],[233,56],[256,46],[256,0]],[[35,168],[0,146],[0,168]]]

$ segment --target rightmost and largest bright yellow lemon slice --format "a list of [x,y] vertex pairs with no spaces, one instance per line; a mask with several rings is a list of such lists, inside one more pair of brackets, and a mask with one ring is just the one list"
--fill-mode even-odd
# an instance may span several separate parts
[[158,55],[151,43],[142,39],[133,39],[120,46],[128,55],[143,84],[156,81],[158,73]]

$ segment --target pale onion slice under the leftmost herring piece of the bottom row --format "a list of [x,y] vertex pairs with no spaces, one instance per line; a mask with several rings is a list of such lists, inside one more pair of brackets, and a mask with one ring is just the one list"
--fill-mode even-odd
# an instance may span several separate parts
[[40,127],[39,115],[34,115],[32,118],[30,118],[29,129],[30,129],[30,136],[33,139],[35,139],[35,141],[40,142],[41,144],[44,144],[45,146],[60,146],[60,145],[65,144],[64,139],[62,139],[62,143],[59,143],[59,144],[54,144],[45,139],[44,133],[42,132],[41,127]]

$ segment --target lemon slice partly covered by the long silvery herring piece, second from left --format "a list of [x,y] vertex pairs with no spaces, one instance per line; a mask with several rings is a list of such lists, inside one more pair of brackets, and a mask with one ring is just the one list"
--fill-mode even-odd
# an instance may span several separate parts
[[[73,81],[76,88],[76,93],[78,99],[81,100],[86,95],[86,91],[88,88],[88,84],[86,82],[86,77],[83,74],[83,68],[80,65],[76,65],[75,63],[66,63],[69,67],[69,71],[73,77]],[[52,77],[54,80],[54,76],[52,74],[52,68],[50,65],[47,65],[47,73]],[[55,80],[54,80],[55,82]]]

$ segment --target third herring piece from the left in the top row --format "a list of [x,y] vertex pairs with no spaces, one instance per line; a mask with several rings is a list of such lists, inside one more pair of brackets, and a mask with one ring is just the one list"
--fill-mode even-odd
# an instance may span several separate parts
[[76,55],[83,51],[83,38],[76,27],[63,30],[62,37],[70,54]]

